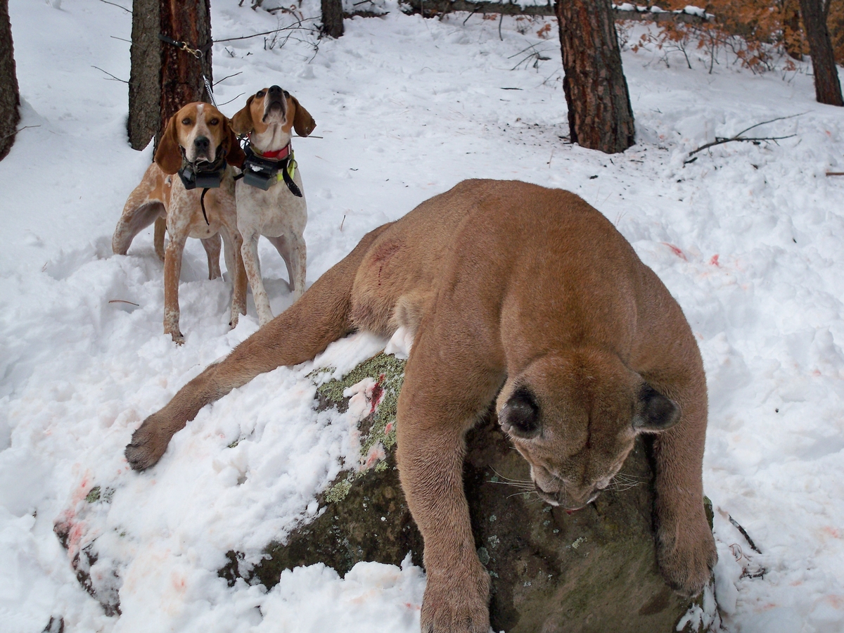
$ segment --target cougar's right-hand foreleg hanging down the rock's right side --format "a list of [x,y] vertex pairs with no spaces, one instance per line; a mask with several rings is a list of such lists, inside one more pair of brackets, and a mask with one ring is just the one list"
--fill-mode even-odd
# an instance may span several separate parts
[[706,587],[717,561],[715,540],[703,507],[706,378],[702,368],[698,373],[688,386],[663,387],[668,398],[679,403],[683,417],[678,425],[657,435],[653,445],[657,560],[668,584],[687,596]]

